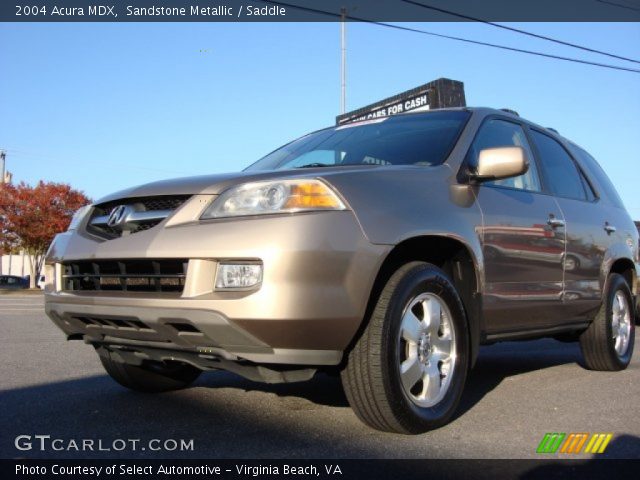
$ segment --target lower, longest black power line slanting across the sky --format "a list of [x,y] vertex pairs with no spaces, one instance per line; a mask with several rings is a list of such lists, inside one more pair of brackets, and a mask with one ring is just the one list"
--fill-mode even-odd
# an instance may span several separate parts
[[[285,3],[285,2],[277,2],[274,0],[260,0],[261,2],[264,3],[271,3],[273,5],[280,5],[283,7],[290,7],[290,8],[295,8],[295,9],[299,9],[299,10],[303,10],[303,11],[307,11],[307,12],[311,12],[311,13],[316,13],[316,14],[321,14],[321,15],[328,15],[330,17],[340,17],[340,14],[337,13],[333,13],[333,12],[327,12],[324,10],[318,10],[315,8],[311,8],[311,7],[302,7],[300,5],[292,5],[290,3]],[[579,58],[573,58],[573,57],[563,57],[561,55],[553,55],[551,53],[544,53],[544,52],[537,52],[534,50],[526,50],[523,48],[516,48],[516,47],[509,47],[506,45],[498,45],[495,43],[488,43],[488,42],[481,42],[479,40],[471,40],[468,38],[463,38],[463,37],[456,37],[453,35],[445,35],[442,33],[435,33],[435,32],[429,32],[427,30],[420,30],[417,28],[411,28],[411,27],[403,27],[401,25],[394,25],[391,23],[385,23],[385,22],[376,22],[373,20],[367,20],[365,18],[359,18],[359,17],[354,17],[352,15],[347,15],[347,18],[350,20],[356,20],[358,22],[363,22],[363,23],[370,23],[372,25],[378,25],[381,27],[387,27],[387,28],[394,28],[396,30],[404,30],[407,32],[413,32],[413,33],[420,33],[423,35],[429,35],[432,37],[438,37],[438,38],[446,38],[448,40],[455,40],[458,42],[464,42],[464,43],[471,43],[474,45],[482,45],[485,47],[492,47],[492,48],[498,48],[501,50],[508,50],[511,52],[518,52],[518,53],[526,53],[528,55],[535,55],[538,57],[545,57],[545,58],[552,58],[554,60],[563,60],[565,62],[574,62],[574,63],[581,63],[583,65],[591,65],[594,67],[601,67],[601,68],[609,68],[611,70],[620,70],[620,71],[624,71],[624,72],[632,72],[632,73],[640,73],[640,70],[637,70],[635,68],[628,68],[628,67],[621,67],[618,65],[611,65],[608,63],[599,63],[599,62],[591,62],[589,60],[581,60]]]

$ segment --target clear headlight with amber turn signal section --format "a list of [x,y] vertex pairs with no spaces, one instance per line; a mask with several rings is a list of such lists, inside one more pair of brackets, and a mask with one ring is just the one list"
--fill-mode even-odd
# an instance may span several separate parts
[[345,208],[335,192],[320,180],[281,180],[233,187],[214,200],[201,218]]

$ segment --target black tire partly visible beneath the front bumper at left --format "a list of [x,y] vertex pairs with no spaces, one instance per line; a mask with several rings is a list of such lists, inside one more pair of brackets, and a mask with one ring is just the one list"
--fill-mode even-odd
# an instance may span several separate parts
[[202,373],[191,365],[179,362],[148,362],[138,366],[122,363],[108,351],[99,356],[102,366],[111,378],[123,387],[138,392],[179,390],[193,383]]

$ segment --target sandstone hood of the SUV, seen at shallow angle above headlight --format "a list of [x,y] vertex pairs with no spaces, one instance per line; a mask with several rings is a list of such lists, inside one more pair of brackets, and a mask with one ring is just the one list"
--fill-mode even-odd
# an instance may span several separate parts
[[319,178],[337,173],[347,173],[381,168],[375,165],[354,165],[343,167],[298,168],[294,170],[244,171],[202,175],[198,177],[174,178],[147,183],[120,190],[101,198],[96,203],[104,203],[123,198],[153,197],[158,195],[217,195],[228,188],[246,182],[289,178]]

